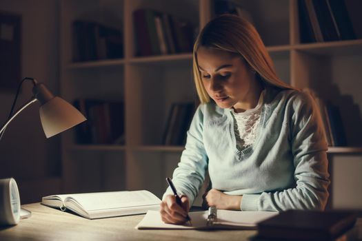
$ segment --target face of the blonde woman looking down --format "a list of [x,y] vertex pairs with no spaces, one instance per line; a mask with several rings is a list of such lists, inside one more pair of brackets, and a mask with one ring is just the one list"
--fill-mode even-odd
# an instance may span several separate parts
[[250,101],[254,74],[239,54],[199,48],[197,61],[205,90],[221,108],[242,108]]

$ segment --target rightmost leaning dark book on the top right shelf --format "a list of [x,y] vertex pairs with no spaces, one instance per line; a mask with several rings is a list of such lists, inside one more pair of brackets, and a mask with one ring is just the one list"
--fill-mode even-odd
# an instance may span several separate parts
[[336,22],[342,40],[356,39],[352,22],[343,0],[325,0],[330,6],[332,17]]

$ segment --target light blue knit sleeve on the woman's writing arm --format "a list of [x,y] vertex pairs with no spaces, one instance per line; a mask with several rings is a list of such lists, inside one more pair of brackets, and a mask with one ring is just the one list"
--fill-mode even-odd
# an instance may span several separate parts
[[[178,167],[174,169],[172,182],[179,194],[188,196],[190,205],[197,197],[200,187],[205,180],[205,172],[208,167],[208,157],[203,145],[203,111],[205,105],[200,105],[197,109],[186,140],[185,150],[181,154]],[[170,187],[163,194],[172,194]]]

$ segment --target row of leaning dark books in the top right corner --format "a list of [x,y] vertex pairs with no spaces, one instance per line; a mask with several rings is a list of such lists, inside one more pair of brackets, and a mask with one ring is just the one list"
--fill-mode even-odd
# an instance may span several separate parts
[[356,39],[344,0],[299,0],[301,43]]

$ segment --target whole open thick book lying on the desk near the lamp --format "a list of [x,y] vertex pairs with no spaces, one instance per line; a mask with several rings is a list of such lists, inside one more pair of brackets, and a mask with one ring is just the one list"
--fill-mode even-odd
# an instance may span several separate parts
[[84,218],[110,218],[159,210],[161,200],[150,191],[109,191],[52,195],[41,198],[41,204],[69,209]]

